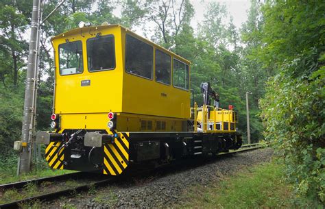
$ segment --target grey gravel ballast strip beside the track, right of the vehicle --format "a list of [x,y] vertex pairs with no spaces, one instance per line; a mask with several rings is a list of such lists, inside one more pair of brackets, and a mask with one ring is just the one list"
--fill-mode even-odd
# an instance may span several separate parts
[[[45,206],[75,206],[77,208],[161,208],[182,204],[184,192],[197,184],[208,185],[220,177],[232,175],[243,167],[268,162],[273,155],[269,148],[218,157],[201,165],[186,164],[174,166],[167,171],[156,172],[146,177],[132,177],[130,181],[119,182],[105,188],[96,188],[93,193],[79,197],[60,199]],[[196,162],[197,163],[197,162]]]

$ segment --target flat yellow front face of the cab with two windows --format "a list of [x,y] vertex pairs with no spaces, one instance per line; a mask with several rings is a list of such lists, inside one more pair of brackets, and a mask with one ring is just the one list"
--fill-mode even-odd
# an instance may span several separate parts
[[121,112],[119,40],[115,27],[78,28],[51,39],[56,64],[53,113],[60,116],[56,129],[105,130],[107,122],[101,127],[96,123],[102,114]]

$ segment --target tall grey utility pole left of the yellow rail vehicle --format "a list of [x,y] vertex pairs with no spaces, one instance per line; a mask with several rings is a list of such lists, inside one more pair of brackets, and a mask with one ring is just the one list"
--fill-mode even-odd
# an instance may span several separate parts
[[29,40],[27,75],[25,84],[25,101],[23,110],[23,127],[21,130],[21,156],[17,173],[28,173],[32,153],[32,136],[37,83],[37,54],[39,45],[40,0],[33,1],[32,23]]

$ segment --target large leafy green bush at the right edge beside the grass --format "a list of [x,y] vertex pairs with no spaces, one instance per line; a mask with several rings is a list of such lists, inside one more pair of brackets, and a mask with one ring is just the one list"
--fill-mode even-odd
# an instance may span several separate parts
[[296,194],[317,205],[325,203],[325,56],[313,62],[314,52],[283,65],[261,108],[265,136],[283,156]]

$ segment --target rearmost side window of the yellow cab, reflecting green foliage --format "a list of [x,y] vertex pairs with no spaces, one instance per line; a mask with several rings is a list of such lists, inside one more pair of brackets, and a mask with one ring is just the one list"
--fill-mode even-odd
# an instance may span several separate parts
[[189,89],[189,66],[173,59],[173,86]]

